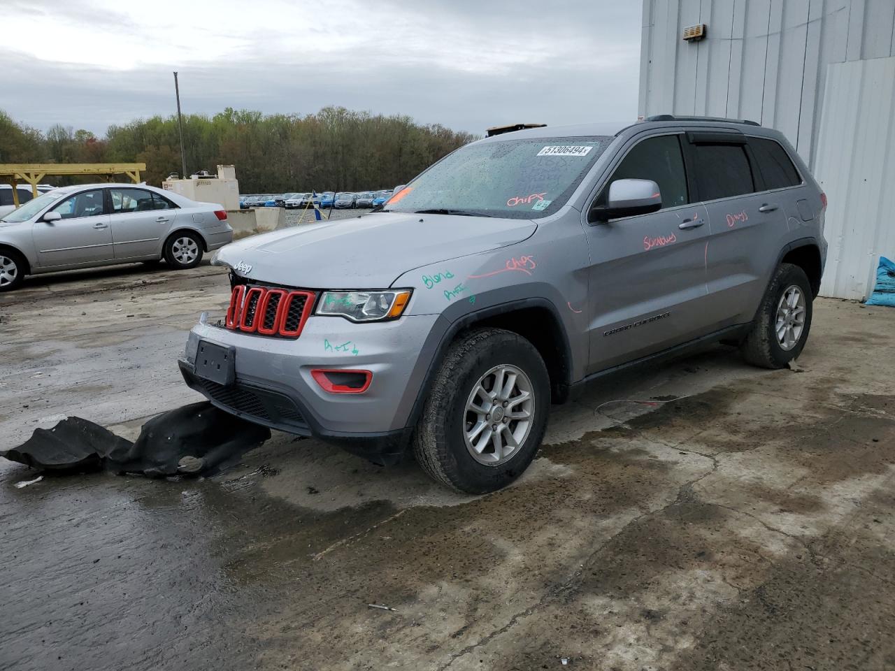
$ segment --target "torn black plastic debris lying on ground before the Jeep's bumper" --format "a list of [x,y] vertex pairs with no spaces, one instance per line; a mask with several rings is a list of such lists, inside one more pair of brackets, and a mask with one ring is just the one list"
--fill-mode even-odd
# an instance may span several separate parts
[[53,429],[35,429],[21,446],[0,456],[51,471],[213,475],[269,437],[269,429],[202,402],[153,417],[133,443],[92,421],[69,417]]

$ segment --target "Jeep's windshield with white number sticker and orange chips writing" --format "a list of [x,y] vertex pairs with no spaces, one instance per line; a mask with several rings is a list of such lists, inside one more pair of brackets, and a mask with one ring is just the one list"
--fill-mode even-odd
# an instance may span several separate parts
[[466,145],[398,191],[385,209],[544,217],[566,203],[611,140],[536,138]]

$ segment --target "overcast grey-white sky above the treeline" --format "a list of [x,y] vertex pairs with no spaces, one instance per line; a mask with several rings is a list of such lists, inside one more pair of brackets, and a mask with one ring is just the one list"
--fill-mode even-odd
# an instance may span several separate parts
[[340,105],[481,133],[633,121],[640,0],[2,0],[0,109],[46,131]]

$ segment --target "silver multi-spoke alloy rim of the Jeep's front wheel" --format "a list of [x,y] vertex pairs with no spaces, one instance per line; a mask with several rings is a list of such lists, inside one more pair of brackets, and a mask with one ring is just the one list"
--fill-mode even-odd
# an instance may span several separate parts
[[504,463],[524,444],[533,416],[532,381],[516,366],[495,366],[479,378],[466,399],[466,449],[479,463]]

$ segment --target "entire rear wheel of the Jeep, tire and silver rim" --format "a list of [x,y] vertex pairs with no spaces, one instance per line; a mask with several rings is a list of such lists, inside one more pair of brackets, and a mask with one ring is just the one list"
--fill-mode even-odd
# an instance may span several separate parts
[[805,271],[781,263],[771,278],[752,330],[740,345],[743,358],[762,368],[784,368],[805,348],[812,317],[811,284]]

